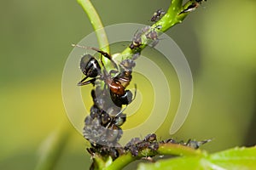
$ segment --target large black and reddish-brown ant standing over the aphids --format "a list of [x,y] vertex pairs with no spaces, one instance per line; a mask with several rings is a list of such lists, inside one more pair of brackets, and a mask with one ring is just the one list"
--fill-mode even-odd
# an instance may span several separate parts
[[[73,47],[95,50],[96,52],[102,54],[104,57],[108,58],[113,63],[115,68],[118,68],[116,63],[113,61],[112,56],[98,48],[84,47],[76,44],[73,44]],[[106,71],[105,65],[102,62],[102,56],[101,63],[104,68],[103,74],[101,73],[101,66],[99,65],[96,58],[94,58],[90,54],[84,55],[84,57],[82,57],[80,61],[80,69],[84,73],[85,77],[78,83],[78,85],[84,86],[90,83],[94,85],[97,78],[102,79],[108,85],[108,88],[110,89],[111,99],[115,105],[119,107],[121,107],[122,105],[129,105],[133,100],[132,94],[130,90],[125,90],[125,88],[131,82],[131,71],[122,71],[116,77],[111,77],[111,75]],[[131,64],[132,65],[128,65],[129,68],[132,68],[134,65],[134,63],[132,62]],[[84,82],[88,77],[92,77],[92,79]],[[136,85],[135,88],[137,89]]]

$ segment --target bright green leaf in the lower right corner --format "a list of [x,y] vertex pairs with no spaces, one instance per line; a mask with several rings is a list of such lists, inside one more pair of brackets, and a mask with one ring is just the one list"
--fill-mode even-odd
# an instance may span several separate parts
[[256,147],[234,148],[212,155],[183,156],[155,163],[141,163],[138,169],[256,169]]

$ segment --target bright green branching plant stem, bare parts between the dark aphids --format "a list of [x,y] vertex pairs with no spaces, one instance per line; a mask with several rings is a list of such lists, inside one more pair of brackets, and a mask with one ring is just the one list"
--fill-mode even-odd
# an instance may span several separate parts
[[[97,36],[100,48],[109,54],[108,38],[107,38],[106,32],[103,29],[102,21],[100,20],[100,17],[96,13],[96,9],[93,7],[93,5],[90,3],[89,0],[78,0],[78,2],[82,6],[82,8],[84,8],[84,11],[86,12],[86,14],[88,14],[90,23],[94,27],[94,30],[96,31],[96,36]],[[160,32],[167,31],[172,26],[182,23],[182,21],[186,18],[186,16],[190,13],[190,11],[185,13],[181,13],[181,12],[183,11],[183,9],[188,8],[189,5],[193,3],[195,3],[195,0],[189,0],[184,5],[183,5],[183,0],[172,0],[171,5],[168,8],[166,14],[159,21],[154,23],[151,26],[151,29],[149,31],[154,30],[160,33]],[[160,29],[155,29],[157,26],[160,26]],[[145,35],[147,33],[148,32],[145,32],[142,34],[142,45],[137,50],[127,47],[121,54],[119,54],[119,56],[117,57],[117,60],[131,59],[133,54],[141,52],[143,48],[145,48],[148,44],[148,38],[145,38]],[[107,71],[109,71],[111,68],[108,67],[108,65],[111,65],[111,61],[103,57],[102,62],[106,66]],[[143,151],[139,154],[139,156],[131,156],[131,153],[127,153],[123,156],[119,156],[115,161],[111,162],[109,165],[108,163],[106,163],[107,161],[104,161],[100,156],[95,157],[94,159],[99,169],[102,169],[103,167],[105,167],[104,169],[106,170],[121,169],[125,167],[127,164],[129,164],[131,161],[141,159],[143,157]],[[156,154],[172,155],[172,156],[200,156],[203,153],[201,152],[201,150],[193,150],[181,144],[160,144],[159,150],[157,150],[156,152],[149,151],[147,156],[155,156]]]

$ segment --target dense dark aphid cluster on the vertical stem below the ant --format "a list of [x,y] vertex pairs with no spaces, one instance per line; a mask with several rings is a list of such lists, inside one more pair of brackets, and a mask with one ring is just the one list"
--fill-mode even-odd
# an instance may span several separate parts
[[123,134],[121,126],[126,116],[121,108],[109,101],[109,96],[104,92],[99,88],[91,90],[94,105],[90,107],[90,116],[84,120],[84,138],[90,141],[90,154],[100,153],[102,156],[112,156],[114,160],[123,154],[118,141]]

